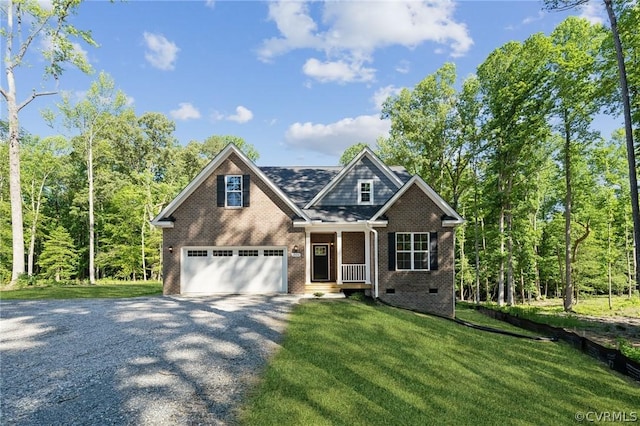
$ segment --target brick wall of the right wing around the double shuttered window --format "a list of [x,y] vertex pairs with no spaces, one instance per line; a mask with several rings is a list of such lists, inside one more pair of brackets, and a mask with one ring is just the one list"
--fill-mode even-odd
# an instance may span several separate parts
[[[442,210],[414,185],[389,208],[386,216],[387,228],[378,231],[380,299],[395,306],[454,316],[454,233],[453,228],[442,227]],[[438,270],[389,271],[390,232],[437,232]]]

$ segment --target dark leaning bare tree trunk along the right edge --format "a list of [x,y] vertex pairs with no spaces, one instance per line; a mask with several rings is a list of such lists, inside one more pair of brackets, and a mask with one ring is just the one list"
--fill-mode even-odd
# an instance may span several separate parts
[[[640,264],[640,209],[638,207],[638,177],[636,171],[636,153],[633,144],[633,128],[631,121],[631,101],[629,98],[629,85],[627,83],[627,70],[624,63],[624,54],[622,52],[622,42],[618,32],[618,20],[613,11],[612,0],[604,0],[609,22],[611,24],[611,34],[613,35],[613,44],[616,48],[616,59],[618,61],[618,76],[620,78],[620,91],[622,93],[622,107],[624,111],[624,131],[627,142],[627,163],[629,165],[629,187],[631,190],[631,211],[633,214],[633,235],[635,244],[635,262]],[[636,268],[636,286],[640,285],[640,268]]]

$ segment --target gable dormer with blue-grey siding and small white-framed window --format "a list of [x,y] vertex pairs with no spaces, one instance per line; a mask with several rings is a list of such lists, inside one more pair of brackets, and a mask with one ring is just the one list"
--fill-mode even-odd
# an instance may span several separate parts
[[402,184],[387,165],[365,148],[306,207],[382,206]]

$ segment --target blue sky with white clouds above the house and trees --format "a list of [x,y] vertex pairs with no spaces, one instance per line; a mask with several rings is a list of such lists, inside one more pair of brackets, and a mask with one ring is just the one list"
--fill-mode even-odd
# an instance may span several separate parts
[[[67,67],[56,87],[42,80],[33,50],[17,73],[18,98],[34,88],[81,94],[105,71],[137,114],[173,119],[182,144],[236,135],[256,147],[259,165],[335,165],[346,147],[385,135],[380,105],[389,94],[445,62],[463,79],[494,49],[548,34],[568,13],[602,22],[600,3],[558,13],[515,0],[89,1],[72,23],[99,44],[76,45],[95,74]],[[39,111],[59,100],[36,99],[21,125],[56,133]],[[6,119],[4,101],[0,114]],[[621,125],[597,121],[607,137]]]

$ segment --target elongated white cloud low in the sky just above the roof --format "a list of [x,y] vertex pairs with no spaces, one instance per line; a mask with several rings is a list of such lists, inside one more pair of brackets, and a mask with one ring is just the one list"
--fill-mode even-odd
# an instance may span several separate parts
[[374,146],[380,136],[388,136],[391,123],[377,115],[344,118],[330,124],[294,123],[285,133],[286,145],[327,155],[341,155],[349,146],[366,142]]

